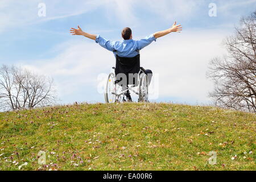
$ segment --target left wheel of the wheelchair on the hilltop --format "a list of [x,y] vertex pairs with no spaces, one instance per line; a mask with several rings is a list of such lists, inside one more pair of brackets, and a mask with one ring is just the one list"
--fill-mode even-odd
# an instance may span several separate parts
[[105,86],[105,101],[106,103],[114,103],[116,101],[115,94],[115,75],[110,73]]

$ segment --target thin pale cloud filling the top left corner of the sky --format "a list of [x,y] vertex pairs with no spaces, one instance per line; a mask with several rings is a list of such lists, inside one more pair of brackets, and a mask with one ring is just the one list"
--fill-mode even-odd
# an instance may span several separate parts
[[84,14],[88,11],[97,9],[107,2],[102,0],[88,1],[50,1],[45,0],[46,17],[38,16],[38,5],[40,0],[1,0],[0,2],[0,33],[13,27],[28,26],[34,23],[47,22],[49,20],[68,18]]

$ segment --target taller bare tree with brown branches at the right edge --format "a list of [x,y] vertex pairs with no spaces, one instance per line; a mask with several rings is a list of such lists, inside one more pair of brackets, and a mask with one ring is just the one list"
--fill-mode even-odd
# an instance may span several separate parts
[[235,30],[224,40],[228,55],[210,61],[210,97],[218,106],[256,112],[256,11]]

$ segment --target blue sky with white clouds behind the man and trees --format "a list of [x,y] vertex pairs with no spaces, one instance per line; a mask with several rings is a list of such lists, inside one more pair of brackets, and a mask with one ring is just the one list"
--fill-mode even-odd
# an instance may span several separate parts
[[[46,5],[45,17],[38,16],[39,3]],[[216,17],[208,15],[209,3],[217,6]],[[53,77],[62,104],[104,102],[97,78],[110,72],[114,56],[92,40],[69,35],[69,28],[79,24],[84,31],[121,40],[122,28],[131,27],[133,38],[140,39],[176,20],[181,34],[160,38],[141,52],[143,67],[159,78],[159,97],[153,101],[209,104],[209,60],[225,53],[222,40],[233,34],[241,16],[255,10],[256,0],[1,0],[0,64]]]

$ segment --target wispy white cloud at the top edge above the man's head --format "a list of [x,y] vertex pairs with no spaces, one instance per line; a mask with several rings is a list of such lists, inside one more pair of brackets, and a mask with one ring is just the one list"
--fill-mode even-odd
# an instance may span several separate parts
[[[193,13],[199,10],[201,0],[108,0],[105,5],[108,12],[107,18],[119,20],[119,23],[135,27],[140,24],[141,17],[137,16],[138,10],[147,9],[155,15],[160,16],[160,20],[188,19]],[[137,10],[137,11],[135,11]]]

